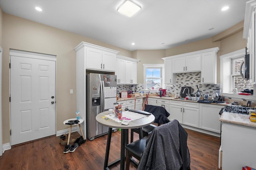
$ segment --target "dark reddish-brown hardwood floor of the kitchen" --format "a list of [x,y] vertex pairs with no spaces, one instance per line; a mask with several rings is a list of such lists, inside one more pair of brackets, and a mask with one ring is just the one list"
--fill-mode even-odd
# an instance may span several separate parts
[[[186,129],[190,151],[191,170],[218,170],[220,138]],[[120,158],[121,132],[112,133],[109,162]],[[73,138],[80,137],[75,132]],[[0,156],[0,170],[101,170],[104,166],[107,135],[78,147],[74,152],[63,153],[59,137],[51,136],[37,141],[12,146]],[[134,133],[134,140],[138,134]],[[120,165],[111,170],[120,169]],[[135,170],[133,164],[130,169]]]

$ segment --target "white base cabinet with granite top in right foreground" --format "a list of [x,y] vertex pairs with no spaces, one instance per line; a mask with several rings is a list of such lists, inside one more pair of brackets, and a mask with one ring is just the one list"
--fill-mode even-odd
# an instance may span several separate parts
[[256,168],[256,122],[249,115],[223,112],[219,168],[241,170],[243,166]]

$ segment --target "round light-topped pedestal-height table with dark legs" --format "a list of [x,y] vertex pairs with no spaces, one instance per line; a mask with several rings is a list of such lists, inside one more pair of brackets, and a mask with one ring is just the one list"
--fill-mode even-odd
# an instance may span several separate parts
[[[102,118],[102,116],[108,115],[108,113],[109,113],[108,111],[104,111],[102,113],[99,113],[96,116],[96,121],[98,123],[100,123],[103,126],[108,127],[108,141],[107,141],[106,154],[105,154],[104,170],[108,170],[110,166],[114,166],[114,165],[118,164],[119,162],[120,162],[120,170],[124,170],[125,146],[128,144],[128,130],[140,128],[140,132],[141,132],[140,135],[142,135],[141,127],[144,127],[144,126],[147,126],[147,125],[150,125],[151,123],[153,123],[155,120],[155,117],[154,117],[154,115],[150,114],[141,119],[130,121],[128,125],[122,125],[121,123],[118,123],[114,120],[109,120],[109,121],[104,120]],[[140,114],[140,113],[138,113],[138,114]],[[109,150],[110,150],[112,128],[122,129],[121,130],[121,156],[120,156],[121,158],[108,164],[108,156],[109,156]]]

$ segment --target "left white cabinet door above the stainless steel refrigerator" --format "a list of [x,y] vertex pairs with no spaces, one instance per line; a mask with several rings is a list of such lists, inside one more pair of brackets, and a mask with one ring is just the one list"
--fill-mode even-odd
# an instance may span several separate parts
[[102,51],[86,48],[86,69],[102,70]]

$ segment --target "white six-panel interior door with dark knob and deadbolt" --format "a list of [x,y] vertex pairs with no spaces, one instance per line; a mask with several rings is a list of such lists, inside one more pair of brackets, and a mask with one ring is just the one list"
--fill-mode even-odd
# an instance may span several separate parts
[[10,56],[12,145],[56,134],[55,62]]

